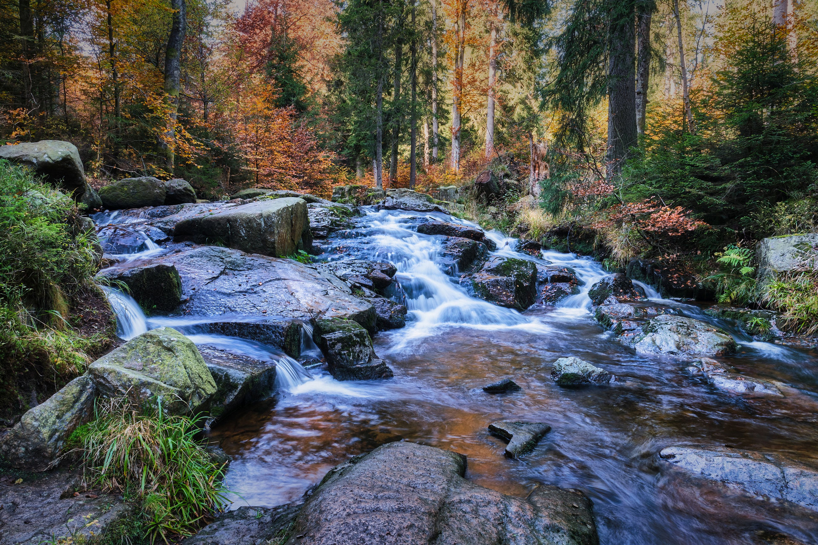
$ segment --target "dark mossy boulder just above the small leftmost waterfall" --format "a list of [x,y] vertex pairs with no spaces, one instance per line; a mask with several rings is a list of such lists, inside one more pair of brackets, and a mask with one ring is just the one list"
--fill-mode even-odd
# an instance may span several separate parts
[[128,292],[146,314],[170,312],[182,300],[182,279],[173,265],[137,264],[106,269],[101,275],[128,286]]

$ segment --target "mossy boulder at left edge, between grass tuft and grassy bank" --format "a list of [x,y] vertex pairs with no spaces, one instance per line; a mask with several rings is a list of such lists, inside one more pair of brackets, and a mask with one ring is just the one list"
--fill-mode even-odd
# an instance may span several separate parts
[[93,415],[97,387],[88,375],[74,378],[33,409],[0,440],[0,455],[12,467],[45,471],[65,446],[65,440]]

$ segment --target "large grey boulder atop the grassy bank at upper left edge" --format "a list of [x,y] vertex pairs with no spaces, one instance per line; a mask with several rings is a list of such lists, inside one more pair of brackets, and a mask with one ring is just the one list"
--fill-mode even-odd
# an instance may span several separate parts
[[0,145],[0,159],[24,164],[52,185],[74,193],[84,192],[85,170],[77,146],[60,140]]

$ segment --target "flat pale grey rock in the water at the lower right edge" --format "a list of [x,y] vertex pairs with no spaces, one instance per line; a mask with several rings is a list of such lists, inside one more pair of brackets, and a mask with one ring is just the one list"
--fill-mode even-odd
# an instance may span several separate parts
[[818,468],[803,462],[719,447],[672,446],[662,449],[659,457],[694,476],[818,511]]

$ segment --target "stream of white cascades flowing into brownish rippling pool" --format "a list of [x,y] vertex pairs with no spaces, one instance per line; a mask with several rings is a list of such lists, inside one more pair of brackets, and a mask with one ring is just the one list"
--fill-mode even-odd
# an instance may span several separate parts
[[[200,333],[196,324],[208,317],[146,319],[131,297],[106,288],[120,337],[168,325],[196,344],[276,362],[275,395],[210,431],[232,458],[226,484],[233,508],[292,502],[339,462],[409,440],[466,454],[467,478],[504,494],[525,496],[539,483],[581,489],[594,503],[605,545],[757,543],[759,530],[818,543],[818,513],[727,493],[667,471],[657,456],[666,446],[705,444],[816,462],[814,351],[754,342],[735,324],[704,315],[698,306],[663,300],[636,283],[650,304],[676,306],[729,331],[739,352],[724,360],[739,373],[784,382],[793,393],[770,399],[719,391],[687,373],[688,360],[635,355],[596,323],[587,290],[609,274],[598,262],[551,251],[530,257],[515,252],[515,239],[488,232],[498,248],[492,255],[569,266],[584,282],[580,293],[557,306],[518,312],[471,297],[438,266],[443,237],[416,232],[430,219],[474,224],[438,212],[364,211],[355,229],[325,244],[319,259],[358,257],[397,267],[402,290],[392,295],[409,310],[407,326],[373,338],[376,353],[394,370],[392,379],[338,382],[270,346]],[[127,229],[127,218],[117,212],[94,219],[103,239],[110,224]],[[119,248],[116,257],[155,257],[168,246],[139,239]],[[319,356],[308,328],[304,332],[303,354]],[[572,355],[608,370],[616,381],[556,386],[551,364]],[[482,390],[506,377],[522,391]],[[496,420],[546,422],[552,430],[532,453],[511,459],[503,455],[505,444],[488,434],[488,423]]]

